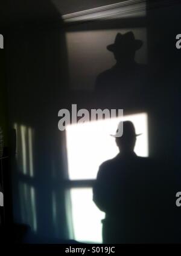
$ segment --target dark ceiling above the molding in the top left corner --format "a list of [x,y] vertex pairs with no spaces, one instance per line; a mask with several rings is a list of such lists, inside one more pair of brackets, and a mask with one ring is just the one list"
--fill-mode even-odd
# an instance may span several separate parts
[[123,0],[0,0],[0,27],[60,19],[62,15]]

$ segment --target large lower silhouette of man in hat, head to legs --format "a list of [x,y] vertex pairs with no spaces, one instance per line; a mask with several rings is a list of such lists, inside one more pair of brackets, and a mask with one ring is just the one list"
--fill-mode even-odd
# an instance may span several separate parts
[[[140,134],[138,134],[140,135]],[[150,242],[150,163],[134,152],[135,127],[123,122],[123,135],[116,137],[118,155],[101,164],[94,186],[94,202],[106,212],[103,243]],[[148,181],[148,182],[147,182]],[[145,231],[147,229],[147,231]]]

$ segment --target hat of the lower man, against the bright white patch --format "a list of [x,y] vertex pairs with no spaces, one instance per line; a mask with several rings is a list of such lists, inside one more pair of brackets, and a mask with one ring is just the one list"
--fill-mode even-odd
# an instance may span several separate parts
[[[131,121],[121,121],[118,124],[118,129],[116,130],[116,133],[118,132],[119,127],[121,127],[122,125],[123,125],[123,133],[122,133],[122,136],[120,138],[122,138],[122,137],[123,138],[134,138],[136,136],[142,135],[142,133],[136,134],[135,126]],[[111,135],[111,136],[116,138],[116,134]]]

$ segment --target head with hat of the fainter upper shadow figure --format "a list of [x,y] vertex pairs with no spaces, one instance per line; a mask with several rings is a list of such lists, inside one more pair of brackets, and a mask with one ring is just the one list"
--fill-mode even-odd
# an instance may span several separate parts
[[113,52],[118,64],[130,64],[135,60],[135,52],[142,44],[141,40],[135,39],[133,32],[118,33],[115,42],[107,45],[107,50]]

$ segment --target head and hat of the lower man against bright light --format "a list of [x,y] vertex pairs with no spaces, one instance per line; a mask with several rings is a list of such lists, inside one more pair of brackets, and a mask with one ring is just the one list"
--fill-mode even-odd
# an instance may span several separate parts
[[129,154],[134,151],[136,136],[139,136],[141,134],[135,133],[135,126],[131,121],[123,121],[122,124],[123,124],[123,133],[121,137],[116,137],[116,145],[119,147],[119,151],[121,153]]

